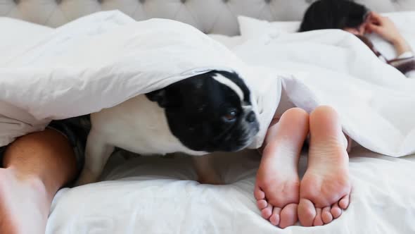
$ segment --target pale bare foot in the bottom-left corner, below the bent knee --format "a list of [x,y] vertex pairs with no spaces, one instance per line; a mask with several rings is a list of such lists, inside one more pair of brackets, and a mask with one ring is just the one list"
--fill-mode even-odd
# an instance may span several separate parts
[[41,180],[0,168],[0,233],[45,233],[51,200]]

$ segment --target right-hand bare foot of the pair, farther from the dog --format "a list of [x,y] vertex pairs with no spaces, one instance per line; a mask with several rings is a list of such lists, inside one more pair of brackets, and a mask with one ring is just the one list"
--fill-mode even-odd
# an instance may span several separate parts
[[321,226],[338,218],[349,205],[349,156],[334,109],[315,109],[309,117],[309,128],[308,166],[300,184],[298,218],[302,226]]

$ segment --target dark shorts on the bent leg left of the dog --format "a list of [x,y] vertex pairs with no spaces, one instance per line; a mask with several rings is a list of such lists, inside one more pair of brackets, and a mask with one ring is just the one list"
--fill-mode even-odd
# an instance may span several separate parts
[[[89,130],[91,129],[89,115],[52,121],[46,128],[57,130],[68,138],[75,152],[77,168],[80,171],[82,166],[84,166],[85,146],[87,144]],[[3,154],[6,148],[7,146],[0,147],[0,164],[3,164]]]

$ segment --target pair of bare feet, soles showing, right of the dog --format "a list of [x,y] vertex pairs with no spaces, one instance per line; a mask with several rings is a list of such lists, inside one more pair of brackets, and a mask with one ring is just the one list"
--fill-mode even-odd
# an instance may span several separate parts
[[[307,171],[300,181],[298,160],[310,136]],[[257,171],[255,199],[262,217],[286,228],[331,223],[349,205],[347,140],[338,114],[319,106],[308,114],[289,109],[269,126]]]

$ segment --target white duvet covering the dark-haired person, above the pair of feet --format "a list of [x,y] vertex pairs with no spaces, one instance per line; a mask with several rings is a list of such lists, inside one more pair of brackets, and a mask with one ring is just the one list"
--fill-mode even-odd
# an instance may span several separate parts
[[367,149],[388,156],[414,153],[415,80],[380,61],[350,33],[264,35],[234,52],[250,65],[285,72],[283,94],[294,106],[333,106],[344,132]]

